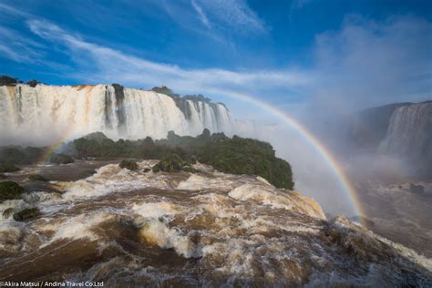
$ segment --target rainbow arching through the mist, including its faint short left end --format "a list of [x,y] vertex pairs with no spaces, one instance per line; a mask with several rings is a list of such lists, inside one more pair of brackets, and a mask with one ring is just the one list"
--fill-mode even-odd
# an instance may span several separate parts
[[[241,101],[255,105],[259,108],[263,108],[273,114],[273,116],[282,119],[283,122],[289,125],[291,128],[295,129],[301,136],[303,136],[303,139],[305,139],[311,145],[311,147],[318,152],[318,155],[321,156],[321,158],[324,160],[324,163],[326,163],[328,167],[334,171],[334,175],[339,180],[338,184],[340,188],[345,191],[348,198],[351,200],[351,204],[353,206],[355,214],[359,216],[365,215],[361,203],[358,200],[357,192],[353,184],[346,177],[344,169],[341,167],[341,165],[338,164],[337,160],[334,159],[332,153],[327,148],[325,148],[324,144],[319,139],[317,139],[311,132],[309,132],[308,129],[304,128],[303,125],[300,124],[297,120],[292,118],[282,109],[276,108],[268,102],[260,100],[258,97],[252,97],[251,95],[240,92],[232,92],[215,88],[206,88],[205,90],[216,95],[219,94],[227,96],[229,98],[239,99]],[[43,156],[38,162],[44,162],[49,159],[50,155],[56,153],[58,149],[60,149],[61,146],[64,145],[64,143],[74,138],[73,134],[73,131],[67,130],[61,138],[57,139],[57,141],[55,141],[53,145],[46,149],[46,152],[43,154]],[[366,227],[365,221],[363,221],[363,217],[360,217],[360,221],[361,224]]]

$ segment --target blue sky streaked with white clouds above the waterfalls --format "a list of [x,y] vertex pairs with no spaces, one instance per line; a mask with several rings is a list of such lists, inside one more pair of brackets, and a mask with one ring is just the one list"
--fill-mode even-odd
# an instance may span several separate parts
[[0,0],[0,74],[48,84],[365,108],[432,98],[430,51],[430,1]]

